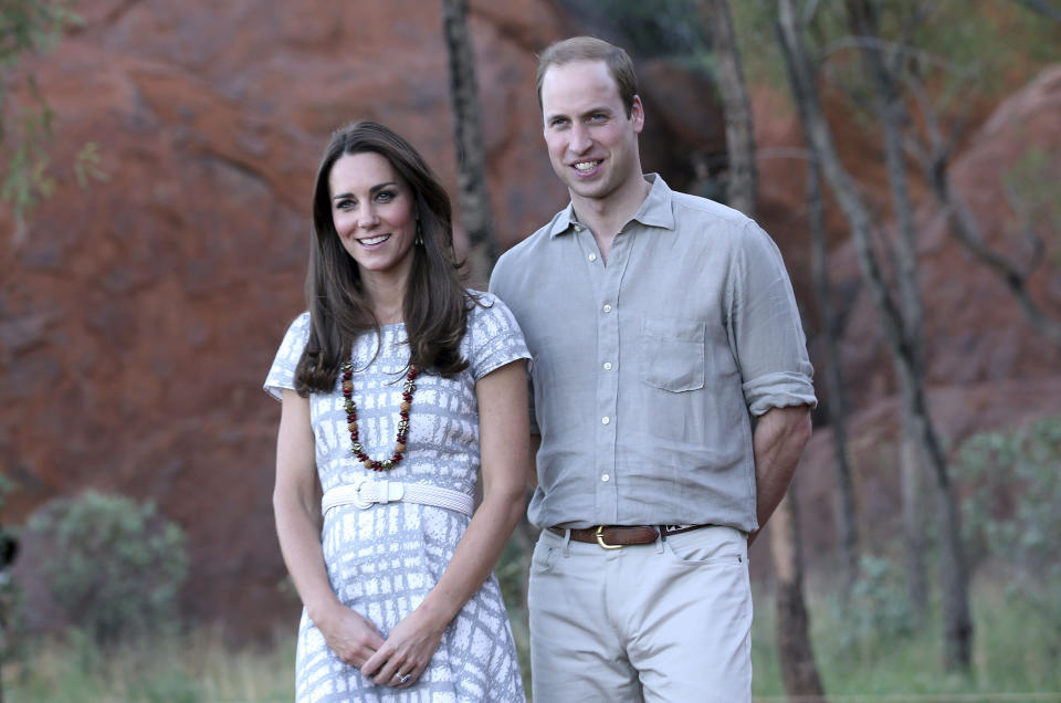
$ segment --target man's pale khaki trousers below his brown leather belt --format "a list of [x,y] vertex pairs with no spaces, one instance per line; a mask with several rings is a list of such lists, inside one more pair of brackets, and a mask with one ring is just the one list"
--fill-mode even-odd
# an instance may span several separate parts
[[528,602],[534,703],[752,699],[752,590],[737,529],[621,549],[545,529]]

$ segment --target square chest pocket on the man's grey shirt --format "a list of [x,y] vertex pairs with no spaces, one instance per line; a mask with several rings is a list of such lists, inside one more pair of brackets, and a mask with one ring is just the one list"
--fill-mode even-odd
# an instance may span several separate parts
[[704,323],[676,317],[641,321],[641,380],[674,392],[704,387]]

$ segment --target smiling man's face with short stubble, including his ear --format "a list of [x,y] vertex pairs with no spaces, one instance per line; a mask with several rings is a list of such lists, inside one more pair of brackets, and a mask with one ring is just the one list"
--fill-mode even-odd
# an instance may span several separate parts
[[542,116],[553,170],[572,198],[605,200],[641,180],[641,99],[633,98],[627,117],[603,61],[549,66],[542,81]]

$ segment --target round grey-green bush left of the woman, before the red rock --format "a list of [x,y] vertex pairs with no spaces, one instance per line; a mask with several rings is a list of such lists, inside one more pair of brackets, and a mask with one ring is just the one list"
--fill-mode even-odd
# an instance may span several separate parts
[[93,641],[114,644],[175,622],[188,575],[185,534],[153,503],[86,491],[35,513],[41,570],[56,602]]

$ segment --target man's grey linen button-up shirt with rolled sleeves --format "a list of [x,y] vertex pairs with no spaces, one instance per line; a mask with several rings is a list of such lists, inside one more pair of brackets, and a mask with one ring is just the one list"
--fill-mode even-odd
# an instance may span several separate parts
[[752,416],[813,406],[780,252],[754,221],[656,175],[608,264],[570,204],[490,290],[533,356],[539,527],[758,527]]

